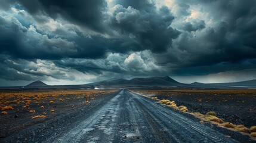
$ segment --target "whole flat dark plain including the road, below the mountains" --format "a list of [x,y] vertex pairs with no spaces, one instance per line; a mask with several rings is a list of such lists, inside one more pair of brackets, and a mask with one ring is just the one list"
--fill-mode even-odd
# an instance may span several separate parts
[[[224,113],[253,118],[255,90],[1,91],[0,101],[7,112],[0,116],[1,142],[255,142],[251,119],[240,119],[249,129],[241,133],[192,114],[215,111],[225,122]],[[233,107],[238,105],[243,108]]]

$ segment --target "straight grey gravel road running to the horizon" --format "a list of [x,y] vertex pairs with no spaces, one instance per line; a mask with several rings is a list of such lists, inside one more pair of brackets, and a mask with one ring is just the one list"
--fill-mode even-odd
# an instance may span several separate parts
[[81,108],[78,113],[41,123],[5,141],[252,142],[249,139],[238,141],[235,140],[238,136],[233,139],[225,135],[169,107],[123,89],[97,107],[90,110]]

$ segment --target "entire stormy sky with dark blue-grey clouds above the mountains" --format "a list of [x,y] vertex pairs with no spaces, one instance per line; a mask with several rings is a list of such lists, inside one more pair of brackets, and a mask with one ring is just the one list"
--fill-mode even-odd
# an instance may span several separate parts
[[0,0],[0,86],[256,79],[254,0]]

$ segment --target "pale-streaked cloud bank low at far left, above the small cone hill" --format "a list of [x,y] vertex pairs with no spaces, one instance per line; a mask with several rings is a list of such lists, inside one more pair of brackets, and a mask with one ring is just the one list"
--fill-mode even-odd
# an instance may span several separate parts
[[0,77],[5,80],[38,80],[49,77],[67,80],[75,79],[74,76],[67,75],[64,69],[56,67],[50,61],[26,61],[13,59],[6,55],[1,55],[0,57]]

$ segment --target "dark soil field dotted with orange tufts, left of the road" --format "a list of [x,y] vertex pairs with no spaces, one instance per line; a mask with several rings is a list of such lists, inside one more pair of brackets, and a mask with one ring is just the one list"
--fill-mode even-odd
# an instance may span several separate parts
[[[116,91],[0,91],[0,138],[6,138],[29,126],[77,110],[92,108]],[[88,98],[89,103],[85,102]],[[12,107],[5,110],[4,107]],[[7,114],[3,114],[7,112]],[[36,119],[33,117],[41,116]]]

